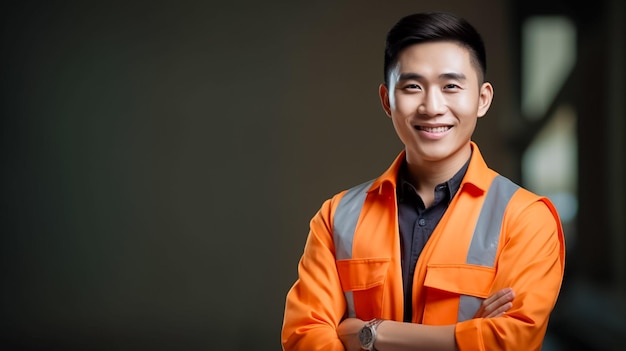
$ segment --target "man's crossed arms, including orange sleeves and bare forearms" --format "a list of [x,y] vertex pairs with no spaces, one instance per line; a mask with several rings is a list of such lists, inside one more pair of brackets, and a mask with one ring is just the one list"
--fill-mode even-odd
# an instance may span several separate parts
[[[389,350],[469,350],[498,348],[540,350],[563,276],[564,242],[558,219],[536,202],[507,222],[506,246],[499,256],[493,287],[515,289],[508,302],[486,299],[474,319],[450,325],[400,323],[378,326],[375,347]],[[342,320],[343,289],[329,232],[330,205],[311,221],[311,232],[298,266],[299,278],[287,294],[281,333],[284,350],[359,350],[360,319]],[[506,297],[505,297],[506,300]],[[495,306],[495,307],[494,307]],[[502,316],[503,307],[506,313]],[[486,318],[485,318],[486,317]],[[496,318],[493,318],[496,317]]]

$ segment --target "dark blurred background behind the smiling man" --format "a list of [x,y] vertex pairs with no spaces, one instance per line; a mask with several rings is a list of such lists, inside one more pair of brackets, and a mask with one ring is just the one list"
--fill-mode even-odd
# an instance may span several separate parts
[[401,149],[384,39],[424,10],[483,34],[475,140],[563,217],[544,349],[621,350],[621,0],[3,2],[0,349],[280,350],[310,218]]

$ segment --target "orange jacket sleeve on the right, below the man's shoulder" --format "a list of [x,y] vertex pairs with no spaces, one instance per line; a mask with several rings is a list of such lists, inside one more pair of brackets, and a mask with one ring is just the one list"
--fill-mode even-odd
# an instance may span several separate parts
[[554,206],[547,199],[539,199],[507,212],[491,293],[513,288],[513,307],[501,317],[458,323],[455,337],[461,351],[540,350],[556,304],[565,244]]

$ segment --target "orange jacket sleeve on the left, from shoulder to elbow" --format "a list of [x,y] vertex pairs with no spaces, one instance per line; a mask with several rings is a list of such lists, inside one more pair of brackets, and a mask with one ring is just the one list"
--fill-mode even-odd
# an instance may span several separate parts
[[311,220],[298,279],[287,293],[283,350],[344,350],[336,331],[346,302],[335,263],[333,203],[326,201]]

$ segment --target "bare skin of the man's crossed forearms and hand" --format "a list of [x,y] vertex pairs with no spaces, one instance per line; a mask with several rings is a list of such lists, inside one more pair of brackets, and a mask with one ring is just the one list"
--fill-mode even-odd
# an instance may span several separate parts
[[[495,318],[503,315],[513,306],[514,297],[515,293],[511,288],[497,291],[482,302],[474,318]],[[358,318],[348,318],[339,324],[337,335],[346,351],[361,350],[357,335],[364,324],[365,321]],[[384,321],[377,328],[374,346],[378,351],[456,351],[454,328],[454,325],[432,326]]]

